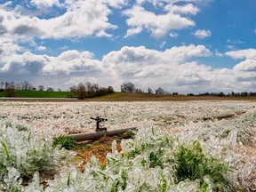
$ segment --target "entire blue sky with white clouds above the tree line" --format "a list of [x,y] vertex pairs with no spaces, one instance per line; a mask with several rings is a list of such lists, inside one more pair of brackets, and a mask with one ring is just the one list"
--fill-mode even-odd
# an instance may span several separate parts
[[0,80],[256,92],[256,1],[0,0]]

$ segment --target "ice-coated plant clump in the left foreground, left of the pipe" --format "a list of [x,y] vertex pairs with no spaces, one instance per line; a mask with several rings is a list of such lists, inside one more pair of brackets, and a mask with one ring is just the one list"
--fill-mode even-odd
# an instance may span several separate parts
[[[22,129],[20,129],[20,127]],[[18,190],[35,172],[57,172],[69,152],[52,148],[52,139],[29,132],[15,119],[0,124],[0,191]]]

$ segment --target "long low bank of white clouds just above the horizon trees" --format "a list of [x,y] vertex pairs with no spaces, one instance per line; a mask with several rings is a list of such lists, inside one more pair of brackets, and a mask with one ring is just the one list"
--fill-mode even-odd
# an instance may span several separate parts
[[200,63],[198,58],[213,56],[200,44],[173,46],[164,51],[124,46],[108,52],[102,60],[95,59],[92,52],[77,50],[61,52],[55,57],[12,53],[4,56],[0,76],[12,75],[17,82],[29,80],[34,86],[42,82],[52,87],[61,84],[65,86],[60,87],[63,90],[92,81],[102,86],[112,85],[118,91],[120,84],[131,81],[144,90],[161,86],[166,91],[181,93],[244,92],[256,85],[254,52],[251,49],[226,52],[227,56],[242,60],[234,68],[212,68]]

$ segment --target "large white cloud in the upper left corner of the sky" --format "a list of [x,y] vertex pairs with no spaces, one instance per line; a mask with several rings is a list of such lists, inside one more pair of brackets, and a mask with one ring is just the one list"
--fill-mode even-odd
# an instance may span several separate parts
[[[116,25],[108,20],[112,9],[125,4],[124,0],[106,1],[106,0],[66,0],[59,4],[58,0],[33,0],[31,4],[37,6],[61,5],[63,13],[49,19],[40,19],[36,16],[26,15],[26,12],[20,14],[15,9],[0,7],[1,25],[0,33],[8,32],[14,39],[31,38],[72,38],[83,36],[106,36],[112,35],[107,30],[114,30]],[[18,5],[17,5],[18,6]],[[20,6],[20,5],[19,5]]]

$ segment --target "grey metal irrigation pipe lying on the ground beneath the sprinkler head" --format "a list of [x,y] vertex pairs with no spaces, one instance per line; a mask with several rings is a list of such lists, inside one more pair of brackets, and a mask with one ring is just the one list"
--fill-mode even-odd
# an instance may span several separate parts
[[103,137],[104,135],[107,136],[113,136],[116,134],[121,134],[124,132],[128,132],[130,130],[134,130],[137,129],[138,127],[129,127],[129,128],[124,128],[124,129],[117,129],[117,130],[102,130],[99,132],[88,132],[88,133],[77,133],[77,134],[69,134],[68,138],[70,139],[74,139],[76,141],[84,141],[84,140],[93,140],[93,139],[97,139],[100,137]]

